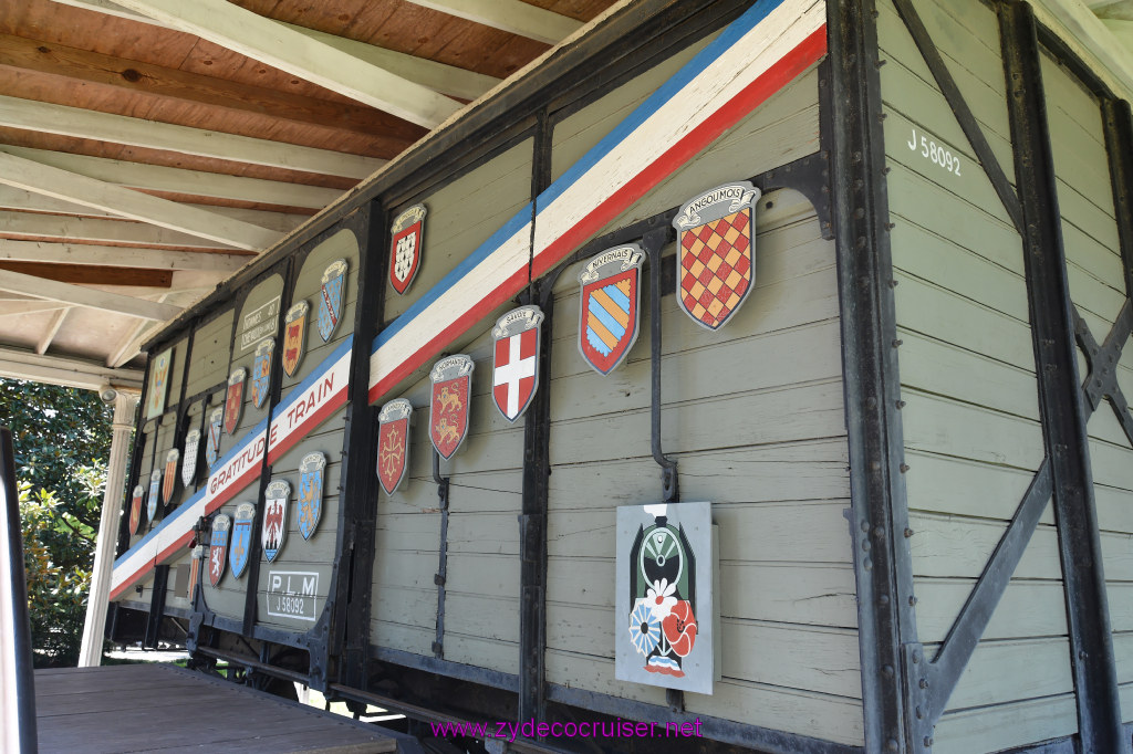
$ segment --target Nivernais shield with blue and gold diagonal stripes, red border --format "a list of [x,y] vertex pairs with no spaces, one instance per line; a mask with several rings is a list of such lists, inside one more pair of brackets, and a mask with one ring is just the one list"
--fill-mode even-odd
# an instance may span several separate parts
[[582,268],[578,350],[599,375],[608,375],[638,336],[641,263],[637,243],[603,251]]

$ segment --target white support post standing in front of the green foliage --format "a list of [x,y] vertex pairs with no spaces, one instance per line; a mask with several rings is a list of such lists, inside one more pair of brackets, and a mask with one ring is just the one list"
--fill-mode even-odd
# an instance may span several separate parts
[[110,462],[107,464],[107,491],[102,496],[102,522],[94,550],[94,571],[91,574],[91,596],[86,605],[86,624],[83,626],[83,646],[78,667],[93,668],[102,662],[102,636],[110,601],[110,574],[114,565],[114,546],[118,543],[118,519],[126,488],[127,452],[134,430],[134,410],[138,395],[118,391],[114,396],[113,439],[110,443]]

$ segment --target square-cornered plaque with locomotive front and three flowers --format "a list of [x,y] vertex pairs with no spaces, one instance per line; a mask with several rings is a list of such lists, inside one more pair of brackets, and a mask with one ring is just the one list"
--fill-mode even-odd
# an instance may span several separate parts
[[617,508],[619,680],[713,693],[713,567],[710,503]]

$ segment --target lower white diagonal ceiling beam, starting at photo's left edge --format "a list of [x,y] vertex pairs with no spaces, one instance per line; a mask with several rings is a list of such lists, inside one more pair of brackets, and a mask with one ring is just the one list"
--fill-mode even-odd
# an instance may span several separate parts
[[281,238],[276,231],[187,207],[5,152],[0,152],[0,183],[253,251],[263,250]]

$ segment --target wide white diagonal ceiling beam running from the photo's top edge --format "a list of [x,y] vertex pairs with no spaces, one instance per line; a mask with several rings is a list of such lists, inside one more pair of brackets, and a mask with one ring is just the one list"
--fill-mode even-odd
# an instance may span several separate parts
[[118,5],[425,128],[436,128],[463,106],[227,0],[119,0]]

